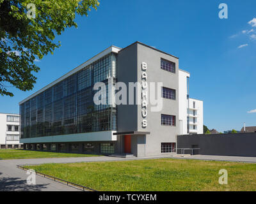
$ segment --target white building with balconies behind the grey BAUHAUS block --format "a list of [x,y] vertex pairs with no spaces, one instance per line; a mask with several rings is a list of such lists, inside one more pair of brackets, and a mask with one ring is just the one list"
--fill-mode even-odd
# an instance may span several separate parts
[[189,98],[190,73],[179,69],[180,135],[204,134],[204,104]]

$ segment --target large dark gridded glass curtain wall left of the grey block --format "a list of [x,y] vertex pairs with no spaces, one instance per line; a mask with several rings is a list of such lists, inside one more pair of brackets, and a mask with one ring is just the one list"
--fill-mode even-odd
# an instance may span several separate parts
[[109,78],[116,82],[113,53],[22,103],[21,138],[116,130],[116,107],[93,103],[93,85],[104,82],[108,93]]

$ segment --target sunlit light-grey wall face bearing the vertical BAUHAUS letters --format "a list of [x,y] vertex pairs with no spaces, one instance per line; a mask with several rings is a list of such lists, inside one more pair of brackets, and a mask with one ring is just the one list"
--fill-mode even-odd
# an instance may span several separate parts
[[[161,69],[161,58],[168,61],[175,62],[176,73],[171,73]],[[179,59],[172,55],[164,54],[154,48],[148,47],[138,43],[138,82],[141,83],[142,62],[147,63],[147,83],[150,82],[162,82],[163,87],[176,90],[176,99],[163,99],[163,108],[160,111],[153,112],[152,103],[148,103],[147,106],[147,128],[141,126],[143,117],[141,115],[141,105],[138,106],[138,131],[148,131],[150,135],[145,138],[145,155],[156,155],[161,154],[161,143],[176,142],[176,136],[179,135]],[[151,93],[151,91],[150,91]],[[150,93],[148,99],[150,98]],[[160,90],[161,96],[161,90]],[[157,89],[155,92],[155,98],[157,98]],[[176,126],[162,126],[161,125],[161,114],[175,115]],[[142,141],[141,141],[142,142]],[[143,146],[143,145],[140,145]],[[139,151],[139,150],[138,150]]]

